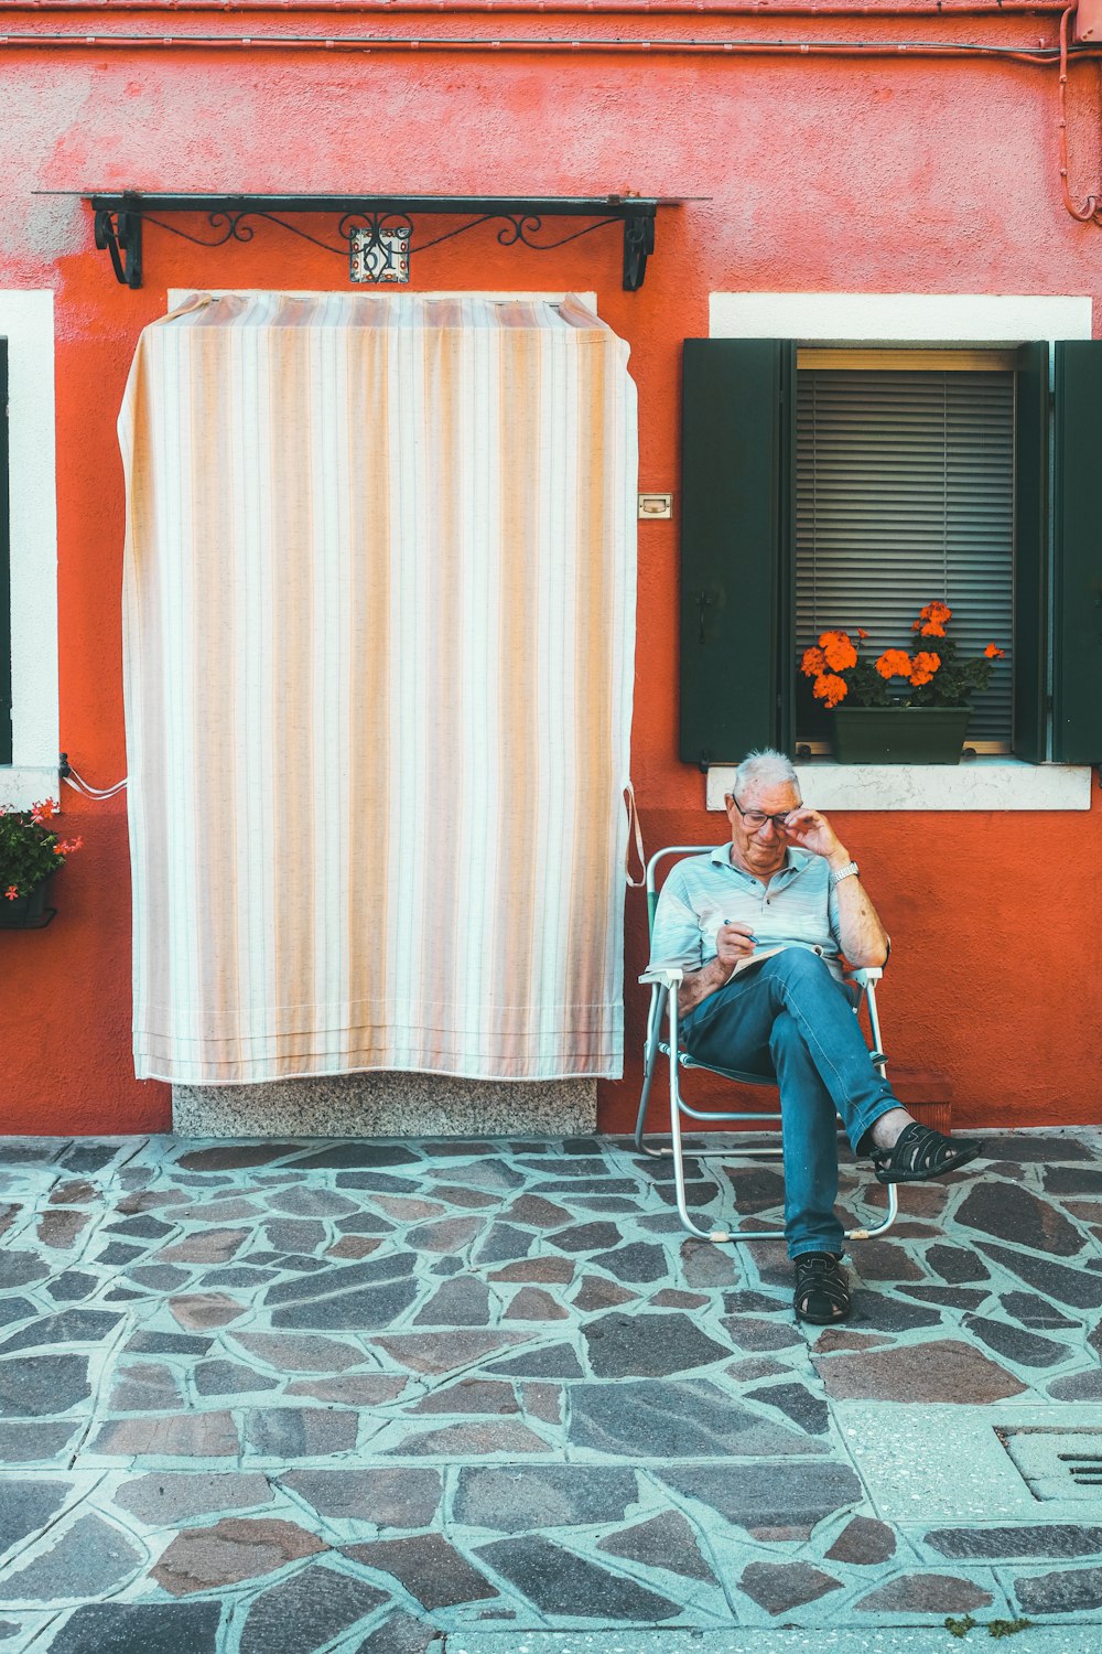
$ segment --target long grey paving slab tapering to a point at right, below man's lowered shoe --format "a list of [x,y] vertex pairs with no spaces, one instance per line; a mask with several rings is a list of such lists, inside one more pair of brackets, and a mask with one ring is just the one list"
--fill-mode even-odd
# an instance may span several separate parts
[[570,1444],[629,1459],[821,1454],[821,1442],[763,1419],[707,1379],[575,1384]]

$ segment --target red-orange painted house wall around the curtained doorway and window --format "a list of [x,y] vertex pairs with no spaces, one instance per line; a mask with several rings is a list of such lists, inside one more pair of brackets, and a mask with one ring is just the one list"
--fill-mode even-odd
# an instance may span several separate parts
[[[149,230],[145,286],[116,284],[88,207],[38,190],[598,194],[707,197],[664,210],[641,293],[620,286],[616,230],[555,253],[497,246],[489,228],[418,255],[413,284],[596,289],[631,342],[641,486],[677,488],[681,341],[707,334],[714,289],[1072,293],[1099,296],[1102,230],[1059,194],[1057,76],[995,58],[676,55],[651,40],[1057,40],[1049,15],[937,18],[487,18],[304,3],[170,13],[2,5],[0,286],[56,294],[61,746],[94,784],[124,769],[122,473],[114,422],[140,327],[169,286],[344,286],[340,258],[278,230],[200,250]],[[676,12],[676,7],[671,8]],[[8,15],[12,13],[12,15]],[[107,15],[109,13],[109,15]],[[349,13],[349,15],[344,15]],[[13,43],[96,35],[97,45]],[[142,35],[124,46],[106,35]],[[149,36],[248,35],[251,46]],[[264,35],[520,38],[532,50],[312,50]],[[540,40],[628,40],[558,51]],[[1072,189],[1095,187],[1097,68],[1071,78]],[[190,228],[198,228],[192,222]],[[324,228],[319,225],[317,228]],[[634,784],[648,845],[719,837],[704,784],[676,758],[676,524],[639,531]],[[739,660],[732,655],[732,693]],[[1099,1121],[1102,810],[861,814],[838,820],[895,939],[884,987],[889,1052],[940,1077],[955,1123]],[[137,1083],[129,1050],[129,863],[121,801],[64,791],[86,849],[58,882],[61,916],[0,933],[0,1130],[149,1131],[169,1092]],[[1087,939],[1087,949],[1082,941]],[[628,982],[644,959],[628,895]],[[628,996],[629,1068],[601,1087],[623,1128],[638,1085],[643,1006]]]

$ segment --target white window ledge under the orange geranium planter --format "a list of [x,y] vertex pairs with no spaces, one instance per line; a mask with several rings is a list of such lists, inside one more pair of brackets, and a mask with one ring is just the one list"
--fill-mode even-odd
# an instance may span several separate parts
[[[707,772],[707,807],[724,809],[734,764]],[[800,791],[819,810],[1089,810],[1090,766],[971,758],[960,764],[798,764]]]

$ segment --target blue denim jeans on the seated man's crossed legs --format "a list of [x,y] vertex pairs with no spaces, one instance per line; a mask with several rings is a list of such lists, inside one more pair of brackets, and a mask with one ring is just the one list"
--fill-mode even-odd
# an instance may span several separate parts
[[836,1115],[856,1150],[879,1115],[900,1107],[872,1067],[848,989],[816,953],[786,948],[702,999],[681,1030],[697,1062],[777,1080],[788,1257],[841,1257]]

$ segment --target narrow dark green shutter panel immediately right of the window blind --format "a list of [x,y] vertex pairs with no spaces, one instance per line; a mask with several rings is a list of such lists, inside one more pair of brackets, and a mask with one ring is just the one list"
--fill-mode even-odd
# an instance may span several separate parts
[[1023,344],[1014,372],[1013,751],[1047,756],[1049,346]]

